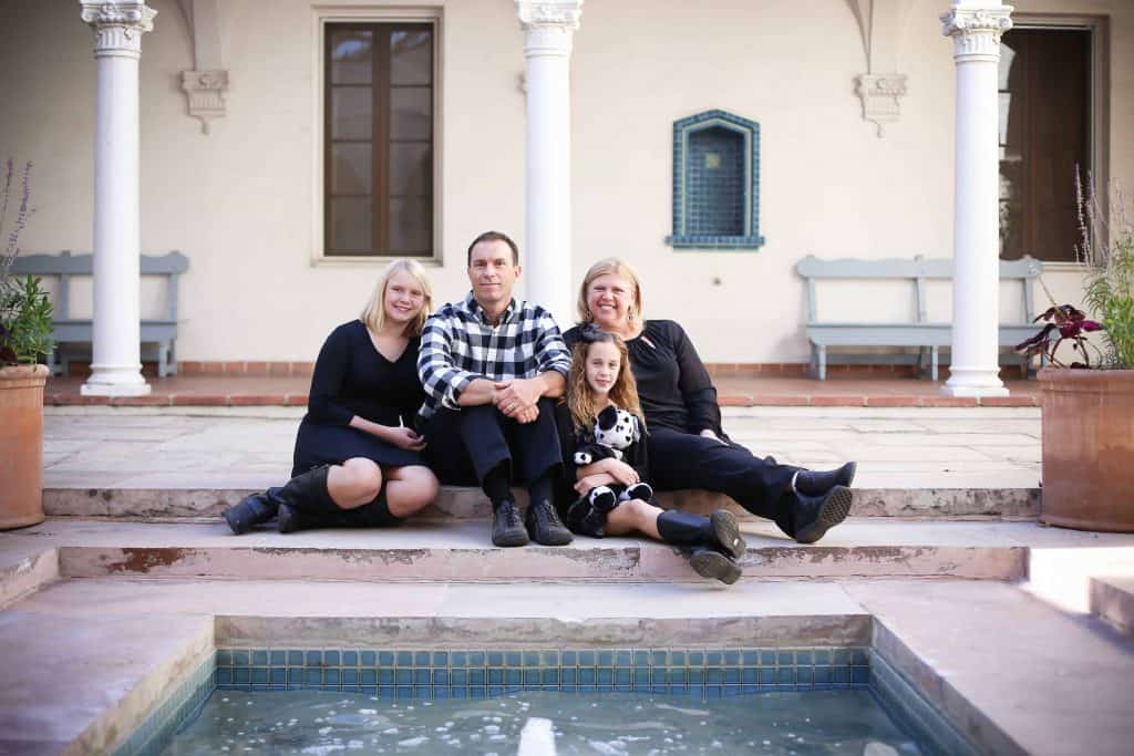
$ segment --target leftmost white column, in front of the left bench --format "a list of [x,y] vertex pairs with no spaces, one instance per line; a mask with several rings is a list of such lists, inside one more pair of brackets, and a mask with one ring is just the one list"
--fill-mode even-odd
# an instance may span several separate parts
[[94,31],[94,343],[84,396],[150,393],[142,377],[138,58],[156,11],[144,0],[81,0]]

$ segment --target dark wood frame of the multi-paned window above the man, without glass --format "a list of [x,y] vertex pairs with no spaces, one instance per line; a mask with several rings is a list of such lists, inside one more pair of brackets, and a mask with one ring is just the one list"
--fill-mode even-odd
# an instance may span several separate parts
[[[389,258],[389,257],[437,257],[437,215],[438,196],[435,181],[437,163],[437,134],[438,134],[438,19],[400,20],[400,19],[374,19],[374,20],[327,20],[322,26],[322,94],[323,94],[323,144],[322,151],[322,258],[323,260],[349,260],[349,258]],[[372,34],[371,44],[371,82],[366,83],[336,83],[333,82],[333,45],[332,35],[344,31],[365,31]],[[391,53],[390,36],[398,32],[429,32],[430,33],[430,76],[428,84],[392,84],[391,83]],[[384,42],[380,41],[384,40]],[[371,103],[371,134],[370,138],[342,138],[336,137],[333,130],[333,108],[335,88],[357,87],[370,90],[372,93]],[[395,138],[391,134],[392,120],[392,92],[398,88],[428,88],[430,102],[430,124],[426,138],[406,138],[404,136]],[[370,144],[371,145],[371,192],[370,194],[352,194],[333,192],[333,155],[337,144]],[[391,192],[390,172],[391,158],[390,147],[395,144],[426,144],[429,165],[425,170],[425,244],[422,248],[391,249],[390,248],[390,201],[408,196]],[[381,145],[381,146],[380,146]],[[335,197],[369,196],[371,212],[371,248],[361,249],[336,249],[333,241],[333,215],[331,201]],[[421,196],[421,195],[415,195]]]

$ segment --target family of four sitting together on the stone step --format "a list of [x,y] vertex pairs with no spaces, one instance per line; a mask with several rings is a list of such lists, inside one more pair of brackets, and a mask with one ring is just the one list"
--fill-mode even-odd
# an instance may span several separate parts
[[[846,518],[855,464],[807,470],[731,441],[696,349],[678,323],[645,320],[623,261],[591,266],[566,333],[513,297],[508,236],[476,237],[467,267],[472,290],[437,312],[418,263],[386,269],[319,352],[291,479],[226,510],[234,533],[273,518],[280,533],[392,526],[439,482],[479,485],[497,546],[638,533],[734,583],[745,542],[731,512],[663,510],[654,491],[727,494],[801,543]],[[523,515],[514,484],[528,492]]]

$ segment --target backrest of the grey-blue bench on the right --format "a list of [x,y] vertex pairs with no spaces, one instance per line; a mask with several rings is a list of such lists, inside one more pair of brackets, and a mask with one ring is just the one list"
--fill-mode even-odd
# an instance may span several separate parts
[[[953,260],[949,257],[925,258],[921,255],[911,260],[820,260],[807,255],[795,265],[796,272],[807,281],[807,321],[816,320],[815,281],[823,279],[873,279],[908,280],[914,282],[917,303],[917,322],[924,323],[925,281],[951,280]],[[1000,261],[1000,280],[1019,281],[1024,289],[1024,320],[1034,317],[1032,303],[1032,280],[1043,273],[1043,263],[1031,256],[1019,260]]]

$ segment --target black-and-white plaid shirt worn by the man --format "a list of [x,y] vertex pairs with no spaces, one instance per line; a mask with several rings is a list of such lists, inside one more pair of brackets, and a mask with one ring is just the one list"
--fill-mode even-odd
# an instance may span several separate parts
[[425,388],[422,419],[438,406],[458,409],[457,399],[474,379],[509,381],[557,371],[566,377],[570,352],[551,313],[515,299],[492,325],[472,292],[425,321],[417,374]]

